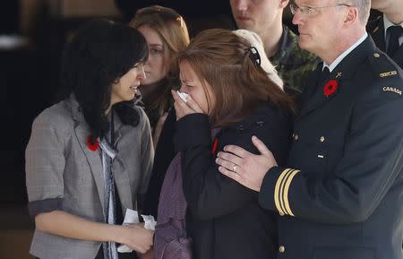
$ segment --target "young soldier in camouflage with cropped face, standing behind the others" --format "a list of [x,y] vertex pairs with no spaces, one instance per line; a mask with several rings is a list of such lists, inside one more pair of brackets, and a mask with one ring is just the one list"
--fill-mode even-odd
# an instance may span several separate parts
[[299,96],[306,75],[319,63],[316,56],[298,47],[298,36],[283,23],[289,0],[230,0],[239,29],[253,30],[261,36],[270,62],[285,82],[285,91]]

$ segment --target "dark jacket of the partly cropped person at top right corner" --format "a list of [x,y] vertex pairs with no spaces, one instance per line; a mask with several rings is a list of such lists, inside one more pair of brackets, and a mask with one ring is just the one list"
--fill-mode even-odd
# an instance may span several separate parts
[[[368,30],[368,33],[373,38],[375,45],[383,52],[386,52],[385,25],[383,23],[383,16],[379,16],[375,20],[368,22],[366,30]],[[393,61],[396,62],[400,68],[403,68],[403,45],[401,45],[396,53],[393,56],[390,56],[390,58],[393,59]]]

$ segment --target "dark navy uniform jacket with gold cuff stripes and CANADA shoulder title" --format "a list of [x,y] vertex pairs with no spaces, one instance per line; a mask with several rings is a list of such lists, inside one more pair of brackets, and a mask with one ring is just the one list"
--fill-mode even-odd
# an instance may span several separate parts
[[317,77],[289,169],[271,168],[259,195],[283,215],[278,258],[402,259],[402,71],[368,38],[330,74],[336,92],[325,97]]

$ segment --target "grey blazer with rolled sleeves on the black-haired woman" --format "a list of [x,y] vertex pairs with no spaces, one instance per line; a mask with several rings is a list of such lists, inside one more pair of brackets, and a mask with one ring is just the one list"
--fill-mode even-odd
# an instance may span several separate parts
[[[118,152],[113,168],[123,214],[126,208],[135,209],[137,194],[146,192],[154,154],[150,122],[142,108],[134,108],[140,114],[136,127],[123,125],[115,116]],[[89,134],[73,95],[35,119],[25,153],[29,206],[104,221],[104,177],[99,151],[87,146]],[[89,259],[95,258],[100,244],[36,229],[30,254],[42,259]]]

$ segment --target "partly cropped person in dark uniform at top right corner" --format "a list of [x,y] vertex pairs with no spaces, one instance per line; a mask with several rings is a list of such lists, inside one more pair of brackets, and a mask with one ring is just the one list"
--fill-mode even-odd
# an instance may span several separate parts
[[403,1],[372,0],[371,4],[383,15],[368,22],[367,30],[376,46],[403,68]]

